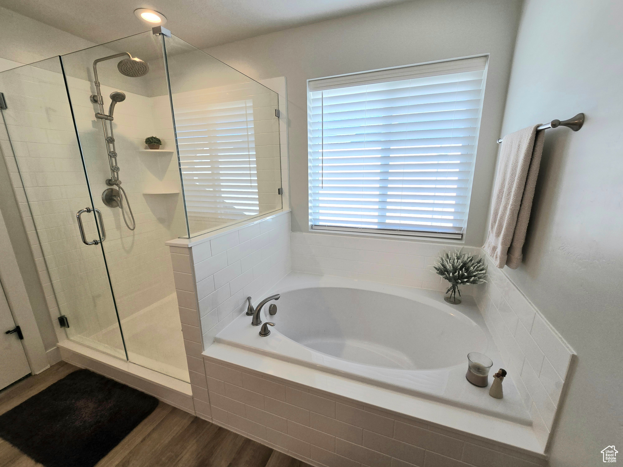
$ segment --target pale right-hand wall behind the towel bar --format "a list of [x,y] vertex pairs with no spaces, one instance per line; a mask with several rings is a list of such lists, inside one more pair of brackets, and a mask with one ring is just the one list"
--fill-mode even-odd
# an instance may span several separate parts
[[601,464],[621,443],[622,17],[620,1],[526,0],[503,122],[587,116],[546,133],[524,263],[505,269],[578,353],[553,466]]

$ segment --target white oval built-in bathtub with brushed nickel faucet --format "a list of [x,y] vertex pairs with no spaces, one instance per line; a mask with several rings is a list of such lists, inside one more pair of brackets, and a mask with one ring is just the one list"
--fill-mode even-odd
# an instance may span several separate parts
[[[481,352],[503,367],[500,354],[471,297],[459,306],[442,293],[336,276],[290,273],[262,297],[280,293],[270,335],[242,313],[214,342],[414,397],[424,397],[530,425],[511,378],[504,399],[465,379],[467,354]],[[490,377],[490,381],[493,378]]]

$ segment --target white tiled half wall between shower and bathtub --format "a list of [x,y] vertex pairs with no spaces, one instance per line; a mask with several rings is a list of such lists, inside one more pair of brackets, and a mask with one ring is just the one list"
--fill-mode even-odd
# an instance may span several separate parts
[[290,212],[242,222],[229,229],[167,242],[197,416],[211,419],[201,352],[219,331],[257,304],[290,272]]

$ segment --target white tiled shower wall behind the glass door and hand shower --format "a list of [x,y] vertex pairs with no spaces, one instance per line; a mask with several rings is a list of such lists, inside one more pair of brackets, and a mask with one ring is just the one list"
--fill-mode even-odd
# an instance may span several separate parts
[[[50,63],[49,68],[54,71],[27,66],[1,75],[9,100],[4,114],[34,220],[4,131],[0,144],[52,320],[56,323],[60,304],[65,312],[73,312],[69,314],[74,316],[74,330],[80,329],[81,335],[90,337],[114,328],[117,319],[100,247],[80,241],[75,213],[90,205],[90,199],[60,67],[58,62]],[[110,172],[100,122],[95,121],[93,105],[88,101],[90,84],[69,78],[69,85],[95,205],[102,210],[107,227],[104,248],[123,319],[174,293],[173,269],[164,242],[184,234],[181,196],[158,197],[143,192],[153,191],[154,186],[166,182],[177,183],[179,189],[176,158],[174,153],[140,152],[145,136],[153,134],[153,102],[151,98],[126,92],[126,101],[115,109],[114,125],[123,186],[137,223],[135,232],[130,232],[123,224],[120,210],[103,207],[97,196],[105,188],[104,181]],[[103,87],[104,95],[110,91],[112,88]],[[88,239],[97,238],[92,214],[82,217]],[[64,339],[62,329],[56,329],[59,339]],[[120,341],[113,346],[120,347]]]

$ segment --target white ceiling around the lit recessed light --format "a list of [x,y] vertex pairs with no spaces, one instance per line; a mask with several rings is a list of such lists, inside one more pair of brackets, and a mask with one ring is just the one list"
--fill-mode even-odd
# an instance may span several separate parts
[[164,27],[205,49],[255,35],[347,16],[405,0],[0,0],[14,12],[102,44],[151,26],[134,16],[150,8],[166,16]]

